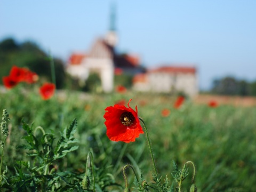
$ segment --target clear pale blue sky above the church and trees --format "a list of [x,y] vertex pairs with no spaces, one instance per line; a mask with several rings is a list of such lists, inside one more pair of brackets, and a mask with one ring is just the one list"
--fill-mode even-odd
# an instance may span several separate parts
[[256,80],[255,0],[1,0],[0,41],[32,40],[67,60],[106,34],[113,2],[118,50],[146,67],[195,65],[201,89],[226,75]]

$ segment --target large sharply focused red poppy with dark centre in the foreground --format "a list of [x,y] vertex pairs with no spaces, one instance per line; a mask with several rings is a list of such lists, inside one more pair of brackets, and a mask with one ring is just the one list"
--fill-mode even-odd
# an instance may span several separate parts
[[107,136],[111,141],[123,141],[126,143],[135,141],[140,133],[144,133],[140,125],[137,106],[134,111],[129,103],[127,107],[114,105],[107,107],[103,116],[106,119]]

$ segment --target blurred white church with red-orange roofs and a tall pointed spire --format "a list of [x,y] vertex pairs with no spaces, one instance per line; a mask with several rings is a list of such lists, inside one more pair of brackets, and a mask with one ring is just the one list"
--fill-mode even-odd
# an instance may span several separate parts
[[105,38],[96,39],[88,53],[71,54],[66,67],[67,73],[80,82],[85,82],[90,73],[98,73],[104,92],[113,91],[115,71],[131,75],[142,71],[138,55],[118,54],[115,51],[118,38],[114,22],[115,12],[112,10],[110,29]]

